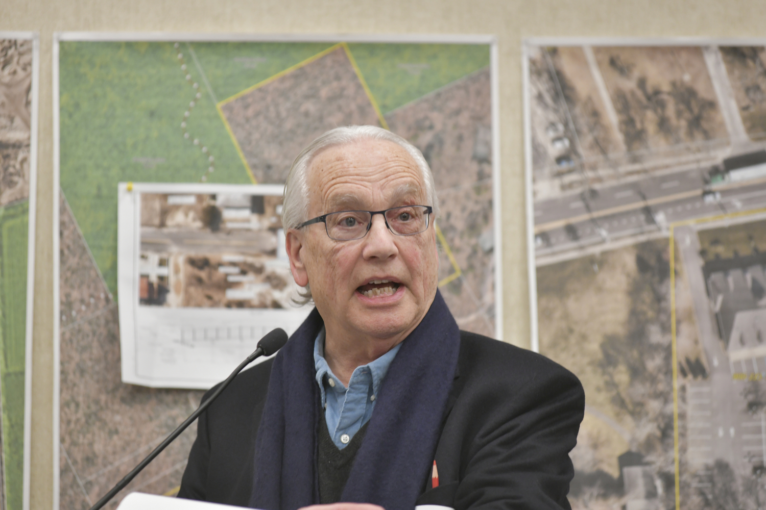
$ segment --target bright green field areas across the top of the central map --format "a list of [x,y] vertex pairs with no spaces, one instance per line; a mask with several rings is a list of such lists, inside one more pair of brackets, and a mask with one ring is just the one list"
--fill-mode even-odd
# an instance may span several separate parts
[[[116,184],[198,182],[203,175],[208,182],[250,184],[216,103],[332,45],[61,43],[61,189],[113,294]],[[348,48],[384,115],[489,66],[487,45],[349,44]],[[191,101],[193,112],[185,119]],[[184,121],[208,152],[203,154],[183,137]],[[214,155],[214,172],[208,172],[208,154]]]

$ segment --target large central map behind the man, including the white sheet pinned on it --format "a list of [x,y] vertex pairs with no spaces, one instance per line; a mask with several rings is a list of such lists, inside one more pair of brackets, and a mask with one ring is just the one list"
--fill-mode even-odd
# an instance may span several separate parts
[[[57,34],[60,508],[90,508],[190,414],[199,388],[255,349],[254,322],[289,330],[305,317],[290,304],[279,193],[255,187],[281,189],[293,158],[330,128],[378,125],[423,151],[441,205],[440,291],[463,330],[502,332],[495,60],[488,36]],[[243,188],[215,188],[232,185]],[[118,229],[129,197],[133,229]],[[221,236],[241,244],[219,250]],[[124,280],[123,261],[134,265]],[[160,327],[133,336],[151,349],[131,378],[121,335],[152,321]],[[182,369],[192,350],[218,372]],[[174,493],[194,434],[122,494]]]

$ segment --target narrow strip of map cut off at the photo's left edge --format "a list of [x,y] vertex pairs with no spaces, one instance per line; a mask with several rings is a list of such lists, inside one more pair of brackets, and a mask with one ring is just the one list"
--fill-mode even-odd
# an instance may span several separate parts
[[[38,41],[0,31],[0,509],[21,510],[28,459]],[[31,257],[28,257],[31,255]],[[30,262],[31,258],[31,262]],[[28,270],[30,271],[28,274]]]

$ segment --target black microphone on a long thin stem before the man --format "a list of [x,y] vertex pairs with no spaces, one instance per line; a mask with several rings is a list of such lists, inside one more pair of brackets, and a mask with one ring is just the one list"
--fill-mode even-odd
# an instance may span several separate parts
[[240,373],[244,367],[249,365],[250,362],[259,356],[271,356],[274,352],[277,352],[279,349],[281,349],[286,342],[287,333],[285,333],[282,328],[278,327],[276,330],[271,330],[269,333],[267,333],[267,335],[260,339],[260,342],[258,342],[257,349],[255,349],[253,353],[250,354],[250,356],[247,356],[247,359],[245,359],[244,362],[241,362],[240,365],[234,369],[234,372],[231,372],[231,375],[229,375],[224,382],[221,382],[221,385],[218,386],[218,389],[215,390],[212,395],[210,395],[210,398],[199,404],[197,411],[191,413],[191,416],[186,418],[182,424],[178,425],[177,429],[173,430],[168,437],[165,437],[165,440],[162,441],[158,447],[152,450],[152,453],[149,453],[149,455],[146,456],[146,459],[142,460],[138,466],[134,467],[133,471],[128,473],[125,478],[121,479],[117,485],[114,486],[112,490],[110,490],[110,492],[106,492],[106,495],[99,499],[95,505],[90,507],[90,510],[98,510],[99,508],[103,507],[103,505],[106,505],[106,503],[108,503],[109,500],[112,499],[117,492],[123,490],[132,479],[136,478],[136,475],[141,473],[142,469],[144,469],[150,462],[152,462],[155,456],[158,456],[162,450],[165,450],[165,448],[170,443],[172,443],[176,437],[181,435],[181,433],[186,430],[186,427],[191,425],[191,423],[197,419],[202,411],[205,411],[205,409],[207,409],[208,406],[212,404],[216,398],[218,398],[218,395],[221,395],[221,391],[224,391],[229,383],[234,381],[234,378],[237,377],[237,374]]

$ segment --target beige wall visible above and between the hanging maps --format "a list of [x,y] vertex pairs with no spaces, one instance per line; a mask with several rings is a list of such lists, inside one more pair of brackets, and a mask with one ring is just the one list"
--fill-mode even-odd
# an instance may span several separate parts
[[499,41],[504,313],[507,341],[529,346],[521,41],[541,36],[764,37],[762,0],[0,0],[0,30],[41,39],[34,284],[31,508],[51,508],[53,420],[54,31],[496,34]]

